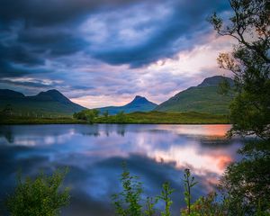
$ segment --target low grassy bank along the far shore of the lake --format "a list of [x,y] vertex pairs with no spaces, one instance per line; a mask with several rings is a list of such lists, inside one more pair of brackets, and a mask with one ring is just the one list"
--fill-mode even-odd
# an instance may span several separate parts
[[[85,120],[72,117],[64,118],[1,118],[0,124],[85,124]],[[129,124],[228,124],[226,115],[213,115],[200,112],[133,112],[129,114],[99,116],[92,123],[129,123]]]

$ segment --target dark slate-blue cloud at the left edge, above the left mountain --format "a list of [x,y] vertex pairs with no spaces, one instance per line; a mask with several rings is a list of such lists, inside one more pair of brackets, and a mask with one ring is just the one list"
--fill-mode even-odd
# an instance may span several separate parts
[[[61,28],[24,29],[14,24],[14,31],[0,32],[0,77],[42,74],[46,60],[65,57],[84,49],[84,40]],[[40,67],[43,67],[40,69]]]

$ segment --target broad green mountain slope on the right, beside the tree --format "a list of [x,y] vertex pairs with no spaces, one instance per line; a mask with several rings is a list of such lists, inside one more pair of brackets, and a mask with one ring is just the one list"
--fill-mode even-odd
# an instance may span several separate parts
[[225,76],[211,76],[205,78],[200,85],[187,88],[175,94],[166,102],[159,104],[156,111],[159,112],[205,112],[212,114],[229,113],[229,103],[233,99],[233,93],[228,95],[218,94],[219,84],[227,80],[233,85],[233,80]]

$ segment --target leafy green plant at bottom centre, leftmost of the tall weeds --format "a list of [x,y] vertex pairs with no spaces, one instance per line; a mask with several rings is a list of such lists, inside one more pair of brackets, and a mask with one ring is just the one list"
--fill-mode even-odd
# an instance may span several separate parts
[[122,167],[121,184],[123,191],[112,195],[116,214],[121,216],[140,216],[142,215],[141,183],[138,181],[138,176],[130,175],[130,171],[125,164]]

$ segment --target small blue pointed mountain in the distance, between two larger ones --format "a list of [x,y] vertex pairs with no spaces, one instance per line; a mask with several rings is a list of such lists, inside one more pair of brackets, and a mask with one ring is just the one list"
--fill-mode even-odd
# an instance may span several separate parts
[[100,112],[108,111],[110,115],[117,114],[118,112],[149,112],[157,107],[156,103],[149,102],[148,99],[142,96],[135,96],[135,98],[128,104],[123,106],[107,106],[97,108]]

